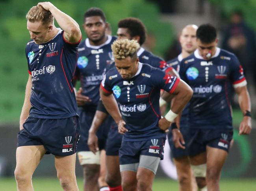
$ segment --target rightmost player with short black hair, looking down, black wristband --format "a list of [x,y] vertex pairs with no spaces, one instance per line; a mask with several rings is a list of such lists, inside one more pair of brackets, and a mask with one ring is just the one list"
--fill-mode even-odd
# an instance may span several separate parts
[[194,92],[188,105],[187,147],[192,167],[198,166],[201,175],[206,170],[208,191],[219,191],[221,169],[233,136],[228,87],[234,87],[243,113],[239,135],[251,131],[250,97],[239,60],[217,47],[215,27],[200,25],[196,36],[198,49],[180,62],[179,72]]

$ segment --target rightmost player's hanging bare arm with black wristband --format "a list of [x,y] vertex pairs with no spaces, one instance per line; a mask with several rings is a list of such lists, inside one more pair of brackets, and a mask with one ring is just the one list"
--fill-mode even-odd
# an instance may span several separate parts
[[243,120],[239,126],[239,135],[248,135],[252,130],[252,122],[250,115],[250,96],[247,90],[247,86],[244,85],[242,87],[235,87],[235,91],[238,95],[239,106],[243,112]]

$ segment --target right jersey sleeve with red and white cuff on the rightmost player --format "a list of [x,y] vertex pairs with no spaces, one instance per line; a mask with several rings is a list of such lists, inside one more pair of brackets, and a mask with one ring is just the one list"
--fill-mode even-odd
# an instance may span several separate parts
[[236,56],[232,58],[232,62],[230,63],[230,81],[233,84],[233,87],[242,87],[244,85],[247,85],[244,73],[243,73],[243,67],[239,63],[239,60]]

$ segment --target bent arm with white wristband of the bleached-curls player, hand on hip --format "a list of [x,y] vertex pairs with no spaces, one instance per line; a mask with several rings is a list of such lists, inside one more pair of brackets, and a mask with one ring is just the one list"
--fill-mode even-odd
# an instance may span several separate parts
[[175,99],[171,109],[164,118],[159,120],[159,127],[164,131],[170,127],[171,122],[174,121],[174,119],[178,116],[178,113],[182,111],[193,95],[193,90],[183,80],[176,83],[178,83],[178,85],[173,91]]

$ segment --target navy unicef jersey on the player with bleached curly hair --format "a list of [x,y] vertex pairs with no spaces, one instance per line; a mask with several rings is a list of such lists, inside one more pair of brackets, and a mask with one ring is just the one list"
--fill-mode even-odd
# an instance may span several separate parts
[[140,62],[137,73],[129,80],[122,79],[116,68],[107,72],[101,88],[106,93],[113,93],[119,105],[128,129],[124,140],[166,137],[166,133],[158,127],[161,118],[160,89],[173,93],[179,81],[160,69]]

